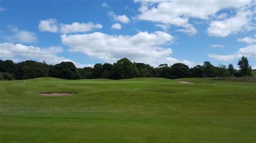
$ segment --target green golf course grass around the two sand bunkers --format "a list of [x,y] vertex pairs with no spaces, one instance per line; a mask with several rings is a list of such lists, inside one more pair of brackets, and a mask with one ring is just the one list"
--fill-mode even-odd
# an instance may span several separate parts
[[[255,142],[255,87],[211,78],[2,81],[0,142]],[[78,94],[38,95],[51,91]]]

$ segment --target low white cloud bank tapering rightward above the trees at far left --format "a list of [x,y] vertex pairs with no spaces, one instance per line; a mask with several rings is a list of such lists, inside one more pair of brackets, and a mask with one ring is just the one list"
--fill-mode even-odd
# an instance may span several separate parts
[[[0,59],[14,59],[16,62],[21,62],[21,60],[37,60],[46,61],[49,64],[56,64],[63,61],[71,61],[77,67],[83,67],[77,62],[70,59],[59,57],[52,51],[51,48],[39,48],[34,46],[25,46],[22,44],[12,44],[9,42],[0,43]],[[19,60],[16,56],[19,56]]]

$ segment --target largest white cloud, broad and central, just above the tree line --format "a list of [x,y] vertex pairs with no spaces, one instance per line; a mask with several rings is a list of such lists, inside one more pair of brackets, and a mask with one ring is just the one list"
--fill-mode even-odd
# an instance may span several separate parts
[[[139,32],[136,35],[109,35],[100,32],[90,34],[61,35],[62,44],[69,46],[71,52],[81,52],[91,58],[105,62],[116,62],[121,58],[149,63],[158,66],[170,60],[171,48],[164,48],[173,42],[172,35],[157,31],[153,33]],[[169,60],[166,60],[169,59]],[[185,62],[185,61],[180,61]],[[188,63],[188,62],[187,62]]]

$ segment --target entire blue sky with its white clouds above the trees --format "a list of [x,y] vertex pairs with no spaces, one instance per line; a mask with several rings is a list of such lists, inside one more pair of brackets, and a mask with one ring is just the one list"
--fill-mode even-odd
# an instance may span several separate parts
[[0,59],[256,68],[256,1],[0,0]]

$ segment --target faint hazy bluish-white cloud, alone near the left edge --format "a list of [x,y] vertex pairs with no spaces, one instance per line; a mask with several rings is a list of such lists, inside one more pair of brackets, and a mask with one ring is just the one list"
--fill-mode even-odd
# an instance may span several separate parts
[[8,25],[8,28],[13,33],[11,35],[4,35],[4,40],[9,42],[37,42],[36,33],[26,31],[26,30],[19,30],[17,26]]

